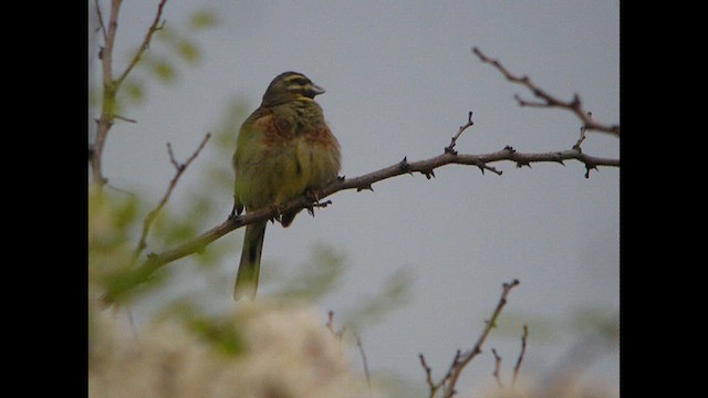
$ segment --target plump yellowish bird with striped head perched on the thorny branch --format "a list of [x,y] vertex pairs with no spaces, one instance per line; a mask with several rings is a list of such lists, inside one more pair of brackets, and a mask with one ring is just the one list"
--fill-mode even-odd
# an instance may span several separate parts
[[[239,130],[232,164],[236,170],[233,213],[278,207],[337,178],[340,144],[314,102],[324,90],[302,73],[275,76],[258,109]],[[280,216],[290,226],[298,211]],[[246,227],[233,298],[253,298],[268,221]]]

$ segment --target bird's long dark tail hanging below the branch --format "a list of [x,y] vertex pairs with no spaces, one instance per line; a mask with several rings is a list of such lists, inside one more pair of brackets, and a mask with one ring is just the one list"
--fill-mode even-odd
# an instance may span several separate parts
[[246,226],[241,262],[239,263],[236,284],[233,285],[233,300],[239,300],[243,296],[248,296],[251,300],[256,297],[266,226],[268,226],[268,221]]

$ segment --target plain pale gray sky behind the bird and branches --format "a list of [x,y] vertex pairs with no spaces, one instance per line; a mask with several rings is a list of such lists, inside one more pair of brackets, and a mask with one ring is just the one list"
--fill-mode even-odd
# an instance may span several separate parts
[[[140,42],[156,4],[125,1],[118,60]],[[520,151],[569,149],[580,122],[568,112],[518,107],[513,95],[531,100],[530,94],[482,64],[472,46],[553,95],[570,100],[579,93],[596,121],[620,122],[616,1],[169,1],[164,17],[178,24],[208,7],[218,10],[219,24],[194,38],[204,55],[199,64],[180,67],[175,85],[152,84],[146,103],[125,115],[138,123],[112,130],[104,158],[112,185],[158,198],[174,172],[165,143],[186,158],[207,130],[217,128],[232,98],[254,109],[270,81],[289,70],[326,90],[317,102],[342,145],[341,174],[347,177],[404,156],[420,160],[440,154],[470,109],[475,126],[459,139],[460,153],[506,145]],[[583,150],[617,158],[620,142],[592,134]],[[198,186],[208,154],[180,182],[170,201],[174,210],[190,205],[185,192]],[[455,350],[473,344],[501,284],[512,279],[521,284],[502,317],[508,312],[568,320],[583,307],[617,310],[618,169],[602,168],[585,179],[579,163],[494,167],[503,175],[446,166],[431,180],[402,176],[374,185],[375,192],[340,192],[330,198],[334,206],[314,219],[301,214],[289,229],[270,226],[263,269],[292,271],[316,243],[345,253],[344,282],[321,304],[323,314],[355,306],[396,270],[409,270],[410,303],[361,336],[373,370],[415,383],[425,378],[417,355],[424,353],[441,376]],[[223,169],[230,172],[230,165]],[[210,226],[228,214],[231,198],[218,203],[223,210]],[[241,231],[223,238],[233,242],[222,264],[229,276],[236,274],[241,239]],[[195,281],[176,289],[209,289],[218,297],[215,305],[228,306],[231,283]],[[555,343],[533,339],[529,322],[522,371],[542,375],[580,332],[558,332]],[[475,389],[472,383],[493,384],[491,347],[498,347],[510,376],[518,337],[492,335],[487,347],[467,370],[461,390]],[[617,390],[617,373],[615,350],[601,355],[584,378]]]

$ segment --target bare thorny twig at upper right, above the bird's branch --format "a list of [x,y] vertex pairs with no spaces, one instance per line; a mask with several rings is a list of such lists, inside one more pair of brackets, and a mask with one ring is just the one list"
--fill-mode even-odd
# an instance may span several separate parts
[[541,102],[530,102],[522,100],[519,95],[516,95],[514,98],[519,103],[519,106],[532,106],[532,107],[561,107],[571,111],[575,116],[577,116],[583,122],[584,130],[595,130],[601,133],[607,133],[612,135],[620,136],[620,125],[603,125],[593,122],[587,112],[583,109],[583,104],[580,100],[580,96],[575,94],[573,100],[565,102],[558,100],[556,97],[548,94],[543,90],[539,88],[535,84],[531,82],[529,76],[517,76],[509,72],[498,60],[492,60],[485,55],[478,48],[472,48],[472,52],[477,55],[483,63],[488,63],[497,69],[508,81],[523,85],[527,87],[537,98],[540,98]]

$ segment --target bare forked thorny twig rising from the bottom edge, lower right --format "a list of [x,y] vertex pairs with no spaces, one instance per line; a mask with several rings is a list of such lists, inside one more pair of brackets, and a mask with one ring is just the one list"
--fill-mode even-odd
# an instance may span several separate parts
[[465,369],[467,364],[469,364],[477,355],[481,354],[482,345],[485,344],[487,336],[489,336],[491,329],[497,326],[497,318],[501,313],[501,308],[503,308],[503,306],[507,304],[507,296],[509,295],[509,292],[511,292],[511,290],[518,284],[519,280],[513,280],[510,283],[502,284],[501,297],[497,303],[497,307],[494,308],[494,312],[492,313],[489,321],[487,321],[487,326],[485,326],[482,333],[477,338],[475,346],[465,353],[458,349],[455,354],[455,358],[452,359],[452,364],[450,364],[447,373],[439,381],[433,381],[433,371],[426,364],[425,356],[423,354],[419,355],[420,365],[423,366],[423,369],[426,374],[426,383],[428,384],[429,388],[429,398],[435,398],[440,389],[442,389],[444,391],[444,398],[450,398],[455,396],[455,394],[457,394],[457,391],[455,390],[455,386],[457,385],[462,370]]

